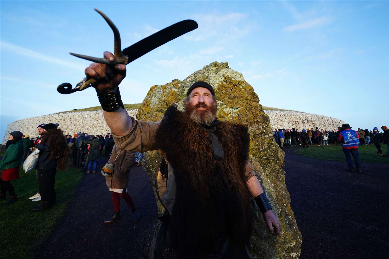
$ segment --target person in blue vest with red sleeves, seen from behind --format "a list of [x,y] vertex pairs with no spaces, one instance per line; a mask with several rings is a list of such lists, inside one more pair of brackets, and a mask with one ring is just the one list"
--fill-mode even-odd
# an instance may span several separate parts
[[342,145],[342,151],[346,157],[348,164],[348,169],[345,169],[347,172],[354,172],[352,167],[351,155],[354,158],[355,167],[358,172],[362,172],[361,163],[359,162],[359,135],[358,132],[352,130],[348,123],[342,125],[343,130],[339,133],[338,141]]

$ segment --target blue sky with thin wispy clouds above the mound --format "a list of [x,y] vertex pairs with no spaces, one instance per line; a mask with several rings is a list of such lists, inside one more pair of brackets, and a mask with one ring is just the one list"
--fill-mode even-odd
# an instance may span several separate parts
[[[260,103],[331,116],[354,129],[389,126],[388,1],[1,1],[1,128],[21,118],[98,106],[70,95],[89,61],[184,19],[199,28],[127,65],[125,103],[211,62],[243,73]],[[42,123],[42,122],[37,122]],[[23,131],[23,129],[21,129]]]

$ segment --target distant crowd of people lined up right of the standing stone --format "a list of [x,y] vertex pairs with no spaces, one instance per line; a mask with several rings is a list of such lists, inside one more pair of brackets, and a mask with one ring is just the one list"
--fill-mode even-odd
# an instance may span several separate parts
[[[377,155],[383,155],[381,146],[382,144],[387,144],[389,142],[389,130],[387,130],[386,126],[382,126],[381,129],[383,132],[380,132],[377,127],[373,130],[362,130],[358,128],[356,132],[358,133],[359,145],[374,144],[377,148]],[[301,131],[295,128],[275,129],[273,131],[273,137],[280,148],[291,148],[292,146],[308,148],[308,145],[341,145],[342,143],[339,140],[339,136],[342,130],[342,127],[338,127],[337,130],[323,130],[318,127],[307,128]],[[383,156],[389,157],[389,147],[388,152]]]

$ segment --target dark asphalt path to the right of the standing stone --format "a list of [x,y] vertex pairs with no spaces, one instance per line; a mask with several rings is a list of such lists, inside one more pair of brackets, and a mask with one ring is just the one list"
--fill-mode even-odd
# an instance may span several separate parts
[[303,236],[300,259],[387,258],[389,166],[363,163],[362,173],[349,173],[345,162],[293,150],[284,148],[284,170]]

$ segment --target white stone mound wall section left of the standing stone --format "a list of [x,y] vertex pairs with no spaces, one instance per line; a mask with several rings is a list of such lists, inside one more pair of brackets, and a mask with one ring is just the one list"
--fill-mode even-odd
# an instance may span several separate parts
[[[130,116],[137,116],[138,110],[127,110]],[[58,123],[63,133],[74,135],[77,132],[88,132],[89,134],[107,134],[110,132],[107,123],[105,123],[102,111],[79,111],[74,113],[55,113],[44,116],[37,116],[17,120],[8,124],[3,144],[8,140],[9,132],[19,130],[30,137],[38,137],[37,126],[40,123]]]

